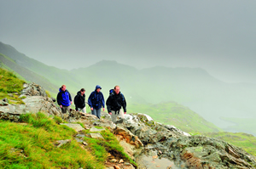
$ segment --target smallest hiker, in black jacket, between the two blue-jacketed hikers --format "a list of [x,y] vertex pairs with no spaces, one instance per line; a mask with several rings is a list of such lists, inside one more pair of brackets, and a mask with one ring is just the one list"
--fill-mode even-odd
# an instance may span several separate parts
[[74,97],[73,102],[76,106],[77,111],[82,111],[83,113],[86,113],[85,109],[85,89],[81,88],[81,90],[77,93],[77,95]]

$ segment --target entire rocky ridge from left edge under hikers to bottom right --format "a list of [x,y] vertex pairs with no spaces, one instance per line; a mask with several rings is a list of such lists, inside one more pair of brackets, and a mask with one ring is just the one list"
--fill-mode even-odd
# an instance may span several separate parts
[[[113,124],[110,115],[102,112],[99,121],[95,115],[82,114],[71,110],[70,114],[61,115],[60,108],[55,106],[54,99],[47,97],[44,89],[37,84],[25,84],[20,97],[25,104],[9,104],[7,99],[0,103],[0,119],[19,121],[21,114],[44,112],[47,115],[57,115],[68,123],[61,123],[73,127],[78,135],[75,140],[86,145],[83,134],[79,131],[90,129],[94,133],[91,137],[102,138],[95,127],[108,128],[118,138],[125,153],[137,162],[137,168],[255,168],[256,158],[243,149],[224,141],[207,138],[183,132],[170,125],[160,124],[148,115],[125,115],[123,123]],[[78,127],[74,122],[84,124]],[[70,142],[70,140],[66,140]],[[66,143],[59,141],[56,146]],[[106,168],[135,168],[130,163],[119,159],[119,155],[109,153]]]

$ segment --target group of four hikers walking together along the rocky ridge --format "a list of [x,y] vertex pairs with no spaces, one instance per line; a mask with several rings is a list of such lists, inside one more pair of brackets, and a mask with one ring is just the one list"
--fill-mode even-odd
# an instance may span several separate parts
[[[90,106],[91,114],[96,115],[99,119],[101,119],[102,110],[105,111],[105,100],[103,93],[101,92],[102,87],[96,85],[95,90],[90,93],[88,98],[88,104]],[[86,113],[85,109],[85,89],[81,88],[77,95],[74,97],[75,109],[77,111],[81,111]],[[67,110],[70,111],[70,105],[72,102],[71,94],[67,91],[66,85],[62,85],[59,89],[59,93],[57,95],[57,103],[61,107],[61,113],[66,114]],[[125,118],[126,114],[126,101],[123,93],[120,92],[120,87],[115,86],[113,89],[109,91],[109,96],[107,99],[107,109],[108,114],[111,115],[111,120],[113,123],[121,123]],[[121,109],[123,107],[123,110]],[[117,121],[117,116],[120,115],[121,119]]]

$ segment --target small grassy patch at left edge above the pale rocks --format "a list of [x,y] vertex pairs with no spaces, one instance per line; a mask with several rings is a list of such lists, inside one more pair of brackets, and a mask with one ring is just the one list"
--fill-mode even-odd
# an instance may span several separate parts
[[[25,81],[17,78],[13,72],[0,68],[0,99],[9,99],[10,104],[24,104],[15,94],[20,94],[24,83]],[[8,93],[13,93],[13,95],[9,96]]]

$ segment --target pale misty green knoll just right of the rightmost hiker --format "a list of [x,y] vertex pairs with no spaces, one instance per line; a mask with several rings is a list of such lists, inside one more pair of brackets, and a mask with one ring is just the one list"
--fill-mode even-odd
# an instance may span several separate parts
[[219,127],[206,121],[194,111],[181,104],[166,102],[161,104],[129,104],[129,113],[143,113],[154,121],[173,125],[183,132],[222,132]]

